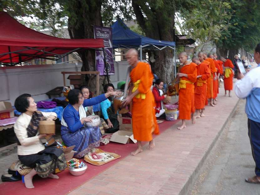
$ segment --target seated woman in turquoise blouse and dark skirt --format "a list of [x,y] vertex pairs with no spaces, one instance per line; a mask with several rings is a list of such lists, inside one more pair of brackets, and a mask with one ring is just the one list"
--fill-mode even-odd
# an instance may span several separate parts
[[[109,83],[104,86],[105,93],[114,92],[115,87]],[[106,129],[106,133],[114,133],[119,129],[119,122],[117,120],[117,113],[115,113],[113,107],[112,98],[108,98],[100,103],[103,118],[107,121],[109,129]]]

